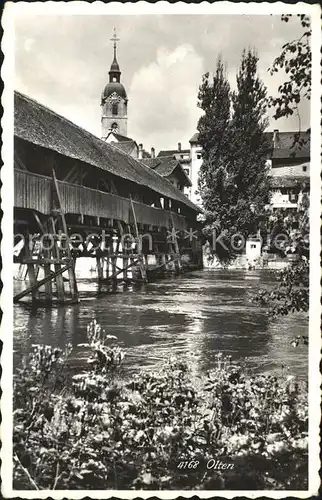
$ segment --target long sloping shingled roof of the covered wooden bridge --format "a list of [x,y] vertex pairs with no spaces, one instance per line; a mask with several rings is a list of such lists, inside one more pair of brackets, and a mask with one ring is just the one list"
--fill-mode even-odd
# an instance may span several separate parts
[[138,185],[145,185],[161,196],[200,212],[200,208],[170,181],[151,168],[17,91],[14,134],[30,143],[80,160]]

